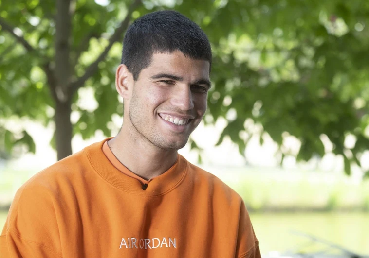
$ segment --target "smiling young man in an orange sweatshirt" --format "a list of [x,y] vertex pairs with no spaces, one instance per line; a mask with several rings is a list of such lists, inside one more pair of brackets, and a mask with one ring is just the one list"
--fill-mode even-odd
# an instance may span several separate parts
[[203,118],[210,66],[209,41],[188,18],[137,19],[116,71],[121,131],[18,190],[1,257],[259,258],[240,196],[177,153]]

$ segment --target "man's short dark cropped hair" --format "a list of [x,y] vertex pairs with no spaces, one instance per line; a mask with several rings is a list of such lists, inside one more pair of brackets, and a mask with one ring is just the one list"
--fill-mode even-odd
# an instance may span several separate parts
[[179,12],[157,11],[129,26],[123,39],[121,63],[137,80],[141,70],[150,65],[154,53],[176,50],[193,59],[209,61],[211,67],[211,47],[203,30]]

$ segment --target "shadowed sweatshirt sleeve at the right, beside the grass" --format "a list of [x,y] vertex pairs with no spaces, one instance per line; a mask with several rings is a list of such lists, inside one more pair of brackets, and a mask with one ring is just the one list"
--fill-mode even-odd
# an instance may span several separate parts
[[236,258],[261,258],[259,241],[255,236],[250,216],[243,201],[240,206]]

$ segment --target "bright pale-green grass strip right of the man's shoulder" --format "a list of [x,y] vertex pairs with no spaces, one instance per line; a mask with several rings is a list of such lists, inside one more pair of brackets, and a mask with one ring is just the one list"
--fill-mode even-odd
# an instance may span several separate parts
[[369,180],[327,172],[215,172],[244,199],[249,211],[369,211]]

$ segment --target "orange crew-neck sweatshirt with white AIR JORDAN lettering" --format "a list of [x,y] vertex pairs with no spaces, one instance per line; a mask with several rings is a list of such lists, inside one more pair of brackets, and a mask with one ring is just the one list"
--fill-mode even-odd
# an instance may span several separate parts
[[143,187],[92,144],[28,180],[0,257],[260,258],[240,196],[181,155]]

